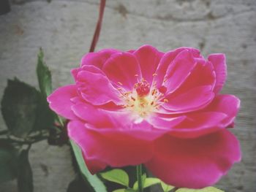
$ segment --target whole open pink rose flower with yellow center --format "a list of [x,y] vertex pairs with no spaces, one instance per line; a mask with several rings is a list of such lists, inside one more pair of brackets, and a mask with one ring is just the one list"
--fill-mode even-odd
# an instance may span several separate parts
[[240,161],[238,140],[227,130],[240,101],[219,93],[224,54],[205,59],[194,48],[162,53],[150,45],[105,49],[86,54],[72,75],[75,84],[48,101],[69,119],[69,137],[91,173],[145,164],[165,183],[203,188]]

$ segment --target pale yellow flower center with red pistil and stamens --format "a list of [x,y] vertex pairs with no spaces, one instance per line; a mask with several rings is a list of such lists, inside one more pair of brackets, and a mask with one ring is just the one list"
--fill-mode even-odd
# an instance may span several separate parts
[[135,83],[132,91],[122,92],[122,90],[121,88],[119,89],[121,97],[126,102],[124,107],[138,115],[140,119],[157,112],[159,105],[167,101],[167,99],[163,98],[162,91],[160,92],[154,85],[150,86],[144,79]]

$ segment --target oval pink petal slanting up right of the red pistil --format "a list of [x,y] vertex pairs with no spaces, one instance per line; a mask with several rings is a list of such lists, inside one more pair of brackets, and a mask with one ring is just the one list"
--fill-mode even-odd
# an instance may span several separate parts
[[165,75],[163,85],[167,88],[167,93],[175,91],[187,79],[195,65],[195,58],[189,50],[178,53],[172,64],[168,66]]

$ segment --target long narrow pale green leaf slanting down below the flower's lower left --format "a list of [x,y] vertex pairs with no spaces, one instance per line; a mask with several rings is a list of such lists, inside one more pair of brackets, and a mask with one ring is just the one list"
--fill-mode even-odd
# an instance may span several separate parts
[[[75,153],[75,158],[78,162],[78,166],[80,169],[80,173],[83,175],[83,179],[88,182],[89,184],[91,184],[92,188],[94,188],[94,191],[96,192],[107,192],[105,185],[102,183],[101,180],[99,180],[99,177],[97,177],[97,175],[92,175],[89,170],[86,167],[86,164],[83,160],[83,155],[81,153],[80,148],[78,147],[78,145],[75,144],[75,142],[72,142],[70,140],[71,146],[72,146],[72,150]],[[91,192],[91,191],[90,191]]]

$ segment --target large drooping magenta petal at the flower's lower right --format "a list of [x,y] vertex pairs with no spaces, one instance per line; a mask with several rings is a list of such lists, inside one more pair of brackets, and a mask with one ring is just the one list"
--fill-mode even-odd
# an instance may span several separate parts
[[214,185],[241,160],[238,140],[223,129],[197,139],[162,137],[146,167],[165,183],[178,188]]

